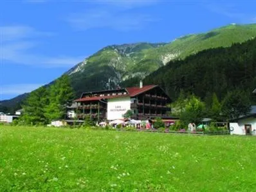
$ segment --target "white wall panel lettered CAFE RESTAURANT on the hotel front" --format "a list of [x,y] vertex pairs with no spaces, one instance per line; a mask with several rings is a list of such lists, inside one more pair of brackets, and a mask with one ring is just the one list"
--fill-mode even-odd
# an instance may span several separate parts
[[123,114],[131,109],[130,97],[114,98],[107,100],[107,120],[123,118]]

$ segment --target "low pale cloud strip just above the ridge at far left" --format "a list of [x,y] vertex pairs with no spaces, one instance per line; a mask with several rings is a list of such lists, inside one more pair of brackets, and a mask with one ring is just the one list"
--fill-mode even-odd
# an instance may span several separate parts
[[1,85],[0,95],[19,95],[29,93],[43,84],[4,84]]

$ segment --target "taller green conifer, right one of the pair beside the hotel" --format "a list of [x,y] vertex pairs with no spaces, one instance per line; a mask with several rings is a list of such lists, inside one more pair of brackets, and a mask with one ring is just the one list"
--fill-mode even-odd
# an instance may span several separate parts
[[44,115],[49,121],[65,118],[66,107],[74,99],[73,88],[68,75],[63,75],[49,89],[49,104],[45,108]]

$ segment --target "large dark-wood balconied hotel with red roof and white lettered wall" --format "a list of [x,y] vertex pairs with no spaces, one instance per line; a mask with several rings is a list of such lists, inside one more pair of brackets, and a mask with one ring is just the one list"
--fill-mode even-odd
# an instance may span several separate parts
[[148,120],[156,117],[168,119],[170,97],[158,85],[105,90],[100,92],[82,93],[77,102],[77,116],[81,120],[90,115],[96,120],[123,119],[123,114],[131,110],[131,118]]

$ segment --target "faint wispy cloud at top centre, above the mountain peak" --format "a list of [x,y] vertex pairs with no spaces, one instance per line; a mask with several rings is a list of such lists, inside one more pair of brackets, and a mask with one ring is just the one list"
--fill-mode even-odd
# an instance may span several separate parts
[[[71,13],[68,23],[78,31],[93,28],[109,28],[116,31],[142,29],[158,19],[143,13],[141,7],[152,6],[161,0],[94,0],[91,9]],[[140,11],[135,8],[141,8]]]

